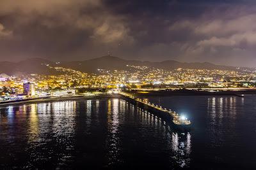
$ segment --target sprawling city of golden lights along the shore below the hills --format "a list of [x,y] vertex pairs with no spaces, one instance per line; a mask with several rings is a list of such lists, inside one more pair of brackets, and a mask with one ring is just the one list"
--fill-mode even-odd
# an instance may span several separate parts
[[[255,88],[256,71],[218,69],[158,69],[127,65],[124,69],[99,68],[97,73],[83,73],[66,67],[52,67],[54,75],[29,74],[26,76],[0,75],[1,95],[19,95],[25,81],[35,83],[36,92],[45,94],[67,89],[182,89],[182,88]],[[4,89],[6,88],[6,89]]]

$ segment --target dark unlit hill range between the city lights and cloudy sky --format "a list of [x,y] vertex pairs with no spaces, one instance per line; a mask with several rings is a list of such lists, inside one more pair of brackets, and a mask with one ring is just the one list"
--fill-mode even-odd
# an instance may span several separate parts
[[97,69],[126,69],[126,65],[150,66],[168,70],[176,68],[236,70],[236,67],[220,66],[209,62],[177,62],[175,60],[149,62],[139,60],[125,60],[120,59],[119,57],[108,55],[84,61],[61,62],[58,65],[51,60],[40,58],[27,59],[20,62],[0,62],[0,74],[57,74],[54,69],[46,66],[46,64],[49,64],[50,66],[68,67],[86,73],[96,73]]

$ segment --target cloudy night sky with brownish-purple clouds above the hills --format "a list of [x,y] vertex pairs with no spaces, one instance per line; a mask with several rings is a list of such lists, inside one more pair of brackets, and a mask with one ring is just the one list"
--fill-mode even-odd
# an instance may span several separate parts
[[0,60],[256,63],[255,1],[0,0]]

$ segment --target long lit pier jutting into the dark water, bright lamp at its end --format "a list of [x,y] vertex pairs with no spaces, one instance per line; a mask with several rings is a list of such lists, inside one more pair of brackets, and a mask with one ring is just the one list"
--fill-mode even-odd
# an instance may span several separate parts
[[166,120],[166,122],[173,124],[175,127],[178,127],[179,129],[187,129],[191,125],[190,120],[180,116],[175,111],[167,110],[162,106],[157,106],[154,103],[143,101],[143,99],[135,98],[131,94],[125,92],[119,92],[119,94],[123,96],[124,99],[129,103],[136,104],[141,109],[152,112],[154,115],[163,118],[164,120]]

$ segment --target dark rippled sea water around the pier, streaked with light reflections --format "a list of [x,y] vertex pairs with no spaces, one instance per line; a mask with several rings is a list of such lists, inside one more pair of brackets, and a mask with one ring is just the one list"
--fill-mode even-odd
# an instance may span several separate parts
[[0,108],[0,169],[256,169],[256,97],[150,97],[190,132],[122,99]]

